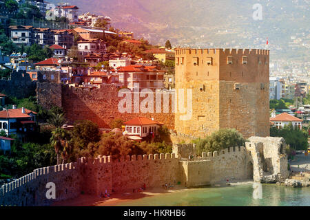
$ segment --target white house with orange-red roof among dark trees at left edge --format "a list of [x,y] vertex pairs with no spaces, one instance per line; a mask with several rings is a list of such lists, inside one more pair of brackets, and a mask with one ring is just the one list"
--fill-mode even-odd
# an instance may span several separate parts
[[0,111],[0,131],[6,135],[23,134],[34,131],[37,121],[37,112],[29,109],[6,109]]

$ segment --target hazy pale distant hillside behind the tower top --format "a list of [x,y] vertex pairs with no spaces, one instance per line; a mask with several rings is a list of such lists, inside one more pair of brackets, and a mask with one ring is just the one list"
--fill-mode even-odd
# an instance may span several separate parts
[[[55,1],[54,1],[55,2]],[[69,0],[70,2],[70,0]],[[287,53],[292,35],[309,44],[309,0],[74,0],[81,12],[109,16],[116,28],[152,43],[196,47],[264,47]],[[262,5],[262,21],[252,6]],[[213,44],[210,44],[213,43]],[[296,47],[297,48],[297,47]],[[297,50],[303,50],[298,47]]]

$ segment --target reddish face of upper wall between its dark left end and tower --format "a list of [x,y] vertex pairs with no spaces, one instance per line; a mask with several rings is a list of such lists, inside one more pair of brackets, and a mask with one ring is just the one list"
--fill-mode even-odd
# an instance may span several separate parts
[[[123,97],[118,98],[116,87],[106,86],[90,90],[89,88],[63,86],[61,106],[70,123],[76,120],[91,120],[100,128],[110,128],[109,124],[114,119],[120,118],[125,122],[140,116],[154,118],[156,121],[163,122],[169,129],[174,129],[174,113],[121,113],[118,111],[118,102],[122,99]],[[140,98],[140,103],[144,99],[145,97]],[[169,100],[169,106],[171,107],[171,100]],[[132,109],[133,107],[134,98],[132,96]]]

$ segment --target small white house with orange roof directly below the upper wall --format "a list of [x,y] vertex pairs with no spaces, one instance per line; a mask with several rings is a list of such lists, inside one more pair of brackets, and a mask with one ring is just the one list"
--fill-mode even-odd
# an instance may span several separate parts
[[158,128],[163,125],[161,122],[151,120],[145,117],[137,117],[124,122],[125,124],[125,134],[132,135],[136,137],[147,137],[147,135],[157,135]]

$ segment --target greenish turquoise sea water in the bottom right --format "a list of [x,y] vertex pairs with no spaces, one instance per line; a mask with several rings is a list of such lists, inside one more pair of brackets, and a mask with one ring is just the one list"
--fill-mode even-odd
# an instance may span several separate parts
[[310,188],[275,184],[193,188],[125,201],[119,206],[310,206]]

